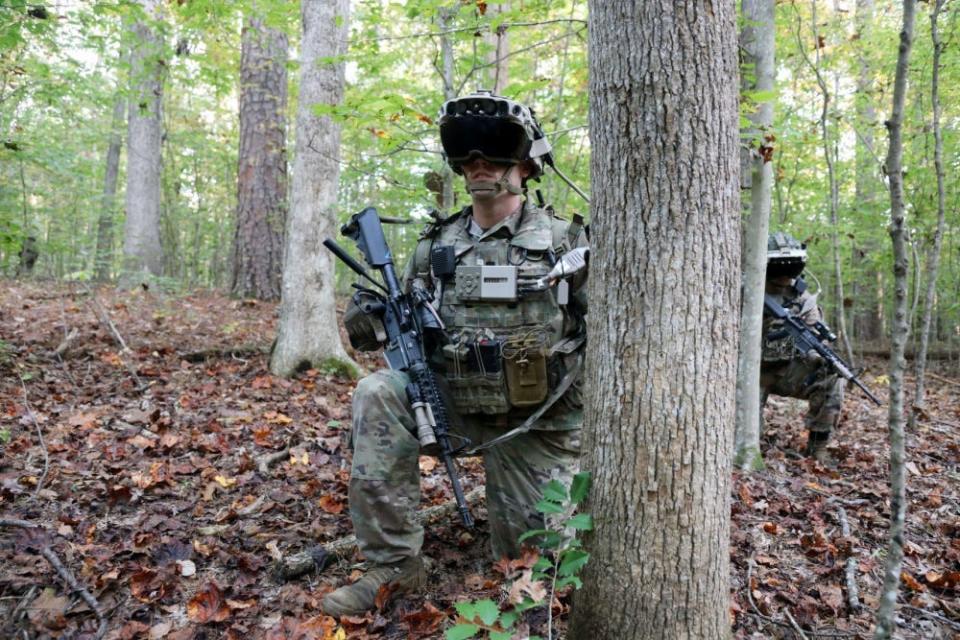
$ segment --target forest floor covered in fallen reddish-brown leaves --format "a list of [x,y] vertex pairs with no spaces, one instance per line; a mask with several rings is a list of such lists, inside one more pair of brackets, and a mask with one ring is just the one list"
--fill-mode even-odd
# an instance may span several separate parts
[[[356,554],[276,576],[277,558],[350,533],[354,383],[271,376],[275,313],[207,292],[0,282],[0,519],[39,525],[0,526],[0,637],[95,635],[90,606],[47,557],[96,598],[117,639],[440,638],[455,602],[501,597],[482,502],[473,532],[453,515],[428,528],[427,590],[342,626],[319,602],[358,575]],[[865,381],[885,398],[886,364],[869,364]],[[933,373],[907,438],[905,639],[960,638],[960,381]],[[773,399],[767,469],[733,483],[737,638],[870,636],[889,517],[886,407],[848,391],[832,468],[797,455],[802,415],[803,403]],[[421,462],[424,503],[449,500],[442,468]],[[467,490],[482,484],[476,460],[463,471]],[[560,637],[569,603],[553,605]],[[546,635],[543,619],[529,617],[532,633]]]

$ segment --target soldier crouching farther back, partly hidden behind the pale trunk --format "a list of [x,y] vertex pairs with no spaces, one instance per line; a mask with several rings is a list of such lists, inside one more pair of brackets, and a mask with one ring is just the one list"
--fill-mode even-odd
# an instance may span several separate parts
[[[795,238],[772,233],[767,241],[766,293],[810,327],[823,321],[817,296],[800,277],[807,251]],[[809,401],[805,424],[809,430],[805,453],[828,461],[827,443],[840,420],[845,381],[815,351],[800,353],[782,321],[764,314],[760,364],[760,419],[770,394]]]

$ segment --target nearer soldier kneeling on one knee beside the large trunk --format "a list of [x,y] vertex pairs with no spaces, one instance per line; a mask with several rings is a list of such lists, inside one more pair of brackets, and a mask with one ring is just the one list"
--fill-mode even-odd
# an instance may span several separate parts
[[[543,486],[569,482],[579,468],[586,272],[521,295],[485,292],[480,274],[494,267],[517,281],[542,278],[562,254],[586,246],[586,233],[582,218],[559,219],[527,197],[550,146],[526,106],[478,92],[447,101],[439,124],[445,158],[472,204],[424,230],[404,286],[422,281],[445,325],[448,341],[431,368],[448,392],[451,437],[490,443],[543,411],[529,430],[483,451],[493,557],[517,557],[518,537],[544,528],[535,508]],[[381,346],[382,330],[371,323],[351,304],[344,324],[354,348]],[[398,593],[425,582],[424,532],[414,519],[422,452],[408,381],[381,369],[354,392],[350,517],[369,568],[323,599],[328,615],[372,609],[384,585]]]

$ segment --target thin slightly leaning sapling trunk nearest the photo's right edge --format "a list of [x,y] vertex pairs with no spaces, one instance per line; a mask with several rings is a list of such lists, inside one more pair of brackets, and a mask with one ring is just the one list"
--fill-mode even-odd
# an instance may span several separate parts
[[[930,13],[930,37],[933,40],[933,76],[930,80],[930,98],[933,109],[933,165],[937,172],[937,231],[933,236],[933,247],[927,258],[927,291],[923,303],[923,319],[920,325],[920,352],[917,354],[916,378],[917,386],[914,394],[914,405],[919,409],[926,404],[924,377],[927,368],[927,349],[930,346],[930,324],[933,319],[934,301],[937,293],[937,274],[940,268],[940,252],[943,247],[943,232],[946,226],[946,189],[944,186],[943,171],[943,132],[940,129],[940,56],[943,53],[943,43],[940,41],[940,31],[937,28],[937,19],[945,0],[934,0],[933,11]],[[917,411],[910,412],[910,430],[916,426]]]

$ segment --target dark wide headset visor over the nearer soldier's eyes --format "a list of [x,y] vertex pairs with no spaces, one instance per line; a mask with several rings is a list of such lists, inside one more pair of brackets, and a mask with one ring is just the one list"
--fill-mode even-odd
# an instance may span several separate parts
[[499,164],[527,159],[530,140],[524,128],[503,118],[459,116],[440,125],[440,143],[455,166],[482,157]]

